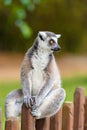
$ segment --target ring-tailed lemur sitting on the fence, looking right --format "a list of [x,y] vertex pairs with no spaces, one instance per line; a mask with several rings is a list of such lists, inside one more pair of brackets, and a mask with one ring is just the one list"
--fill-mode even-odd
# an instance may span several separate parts
[[36,119],[53,116],[60,109],[66,94],[53,55],[53,51],[60,50],[60,36],[47,31],[38,33],[22,63],[22,89],[6,98],[6,118],[18,116],[23,102]]

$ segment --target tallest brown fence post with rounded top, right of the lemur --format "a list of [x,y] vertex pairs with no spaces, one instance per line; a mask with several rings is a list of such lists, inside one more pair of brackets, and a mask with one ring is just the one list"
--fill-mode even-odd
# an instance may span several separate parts
[[74,130],[84,130],[84,88],[77,88],[74,93]]

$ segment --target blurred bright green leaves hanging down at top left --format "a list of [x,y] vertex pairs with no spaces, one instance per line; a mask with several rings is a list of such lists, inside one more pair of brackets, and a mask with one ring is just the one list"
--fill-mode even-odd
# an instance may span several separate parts
[[27,11],[33,11],[35,5],[39,3],[39,0],[4,0],[3,4],[5,8],[9,11],[10,22],[15,21],[25,38],[29,38],[32,34],[32,29],[27,23],[26,16]]

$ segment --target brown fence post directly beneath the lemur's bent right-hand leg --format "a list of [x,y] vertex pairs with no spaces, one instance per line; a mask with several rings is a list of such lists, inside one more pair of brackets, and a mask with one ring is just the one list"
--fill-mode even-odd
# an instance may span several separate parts
[[50,119],[50,130],[62,130],[62,108]]

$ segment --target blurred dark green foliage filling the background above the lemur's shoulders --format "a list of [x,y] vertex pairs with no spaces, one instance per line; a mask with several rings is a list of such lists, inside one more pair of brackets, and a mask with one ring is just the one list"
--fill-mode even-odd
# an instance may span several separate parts
[[39,30],[61,33],[63,52],[87,53],[87,1],[0,0],[0,50],[25,51]]

